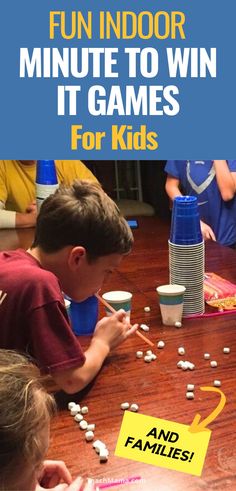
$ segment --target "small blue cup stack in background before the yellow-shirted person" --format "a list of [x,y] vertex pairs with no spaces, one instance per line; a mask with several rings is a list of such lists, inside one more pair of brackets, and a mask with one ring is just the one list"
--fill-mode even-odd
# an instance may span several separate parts
[[42,202],[58,188],[54,160],[37,160],[36,170],[36,204],[40,209]]

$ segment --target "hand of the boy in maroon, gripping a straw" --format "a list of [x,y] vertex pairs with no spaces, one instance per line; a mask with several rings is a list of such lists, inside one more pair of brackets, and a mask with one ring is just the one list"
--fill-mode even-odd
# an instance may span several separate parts
[[138,329],[138,324],[133,326],[124,310],[118,310],[110,317],[103,317],[94,331],[93,338],[106,344],[109,350],[115,348]]

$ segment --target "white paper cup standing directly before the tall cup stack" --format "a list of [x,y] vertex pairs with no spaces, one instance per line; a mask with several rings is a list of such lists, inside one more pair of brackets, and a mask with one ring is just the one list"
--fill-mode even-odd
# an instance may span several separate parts
[[162,285],[156,288],[165,326],[174,326],[176,322],[182,321],[185,290],[183,285]]

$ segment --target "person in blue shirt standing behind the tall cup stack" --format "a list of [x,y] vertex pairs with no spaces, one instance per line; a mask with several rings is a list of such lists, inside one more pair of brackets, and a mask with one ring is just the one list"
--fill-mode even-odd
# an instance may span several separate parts
[[166,192],[198,198],[205,240],[236,246],[236,160],[168,160]]

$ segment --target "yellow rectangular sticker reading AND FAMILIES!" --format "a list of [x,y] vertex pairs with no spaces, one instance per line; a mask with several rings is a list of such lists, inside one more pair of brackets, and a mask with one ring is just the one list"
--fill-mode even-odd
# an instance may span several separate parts
[[115,455],[200,476],[211,431],[125,411]]

